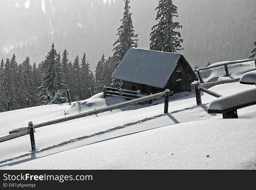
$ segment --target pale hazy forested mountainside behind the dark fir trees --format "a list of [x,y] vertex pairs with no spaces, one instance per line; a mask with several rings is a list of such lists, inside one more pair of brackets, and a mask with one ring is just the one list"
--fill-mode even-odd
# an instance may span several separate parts
[[[246,1],[246,2],[245,2]],[[184,42],[181,50],[194,67],[226,60],[246,59],[256,40],[255,0],[175,0],[177,21]],[[104,53],[113,55],[113,44],[123,14],[123,0],[33,0],[1,1],[0,58],[16,55],[18,63],[27,56],[38,65],[49,44],[67,49],[69,59],[86,53],[91,69]],[[115,2],[115,3],[114,3]],[[26,3],[26,7],[24,4]],[[131,0],[138,48],[149,49],[149,34],[156,23],[158,0]]]

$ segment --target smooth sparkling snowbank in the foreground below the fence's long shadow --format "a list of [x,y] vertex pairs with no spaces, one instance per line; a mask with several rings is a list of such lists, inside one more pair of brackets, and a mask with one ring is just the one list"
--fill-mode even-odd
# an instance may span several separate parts
[[[2,169],[256,169],[255,119],[187,122],[19,160]],[[207,157],[209,155],[209,157]],[[54,162],[53,162],[54,160]]]

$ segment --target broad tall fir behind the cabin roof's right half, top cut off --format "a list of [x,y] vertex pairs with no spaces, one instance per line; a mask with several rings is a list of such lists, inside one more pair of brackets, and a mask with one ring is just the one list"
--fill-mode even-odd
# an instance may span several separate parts
[[179,22],[173,22],[173,17],[178,17],[177,7],[173,5],[172,0],[159,0],[157,8],[156,20],[159,20],[154,25],[150,33],[150,50],[164,52],[178,52],[183,50],[180,43],[180,32],[175,29],[182,28]]

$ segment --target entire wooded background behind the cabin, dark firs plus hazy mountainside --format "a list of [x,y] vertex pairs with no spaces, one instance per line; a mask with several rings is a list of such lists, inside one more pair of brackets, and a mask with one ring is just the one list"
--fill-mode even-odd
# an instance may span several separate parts
[[[93,95],[104,85],[119,87],[122,82],[111,75],[129,48],[182,53],[195,67],[255,57],[255,31],[248,26],[256,22],[255,1],[134,2],[30,1],[29,8],[16,3],[9,7],[17,9],[12,24],[10,11],[1,11],[3,27],[13,33],[1,30],[0,112],[7,102],[10,110],[67,102],[67,89],[79,101],[90,97],[89,87]],[[220,5],[224,9],[214,12]],[[17,30],[19,24],[27,27]]]

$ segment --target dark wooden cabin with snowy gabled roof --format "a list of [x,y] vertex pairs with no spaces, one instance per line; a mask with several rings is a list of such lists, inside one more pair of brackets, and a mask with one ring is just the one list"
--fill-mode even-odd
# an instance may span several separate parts
[[113,79],[123,81],[123,88],[155,94],[170,89],[174,93],[191,92],[195,72],[182,54],[130,48]]

